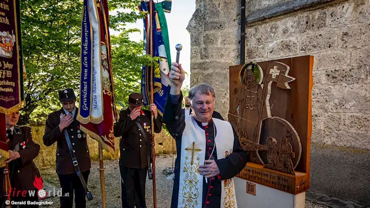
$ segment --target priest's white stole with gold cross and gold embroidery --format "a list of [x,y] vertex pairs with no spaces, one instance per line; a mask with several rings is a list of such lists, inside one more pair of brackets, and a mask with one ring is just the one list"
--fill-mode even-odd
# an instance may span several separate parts
[[[222,159],[232,153],[233,130],[228,121],[217,118],[212,120],[217,131],[215,138],[217,158]],[[199,174],[198,168],[204,164],[205,151],[205,131],[199,127],[192,115],[186,116],[181,140],[178,208],[202,208],[203,176]],[[237,208],[232,178],[221,181],[221,207]]]

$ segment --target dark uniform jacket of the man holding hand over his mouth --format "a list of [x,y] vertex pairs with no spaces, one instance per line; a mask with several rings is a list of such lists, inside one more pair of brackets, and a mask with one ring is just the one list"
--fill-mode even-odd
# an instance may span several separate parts
[[[70,137],[74,154],[78,161],[81,172],[88,171],[91,168],[90,153],[87,146],[86,134],[80,130],[80,122],[76,120],[78,108],[74,115],[74,120],[66,129]],[[63,108],[48,115],[46,120],[45,134],[43,136],[44,144],[51,146],[57,142],[56,152],[56,172],[57,174],[67,175],[75,173],[72,158],[68,150],[67,141],[65,141],[64,132],[60,132],[60,116],[65,115]]]

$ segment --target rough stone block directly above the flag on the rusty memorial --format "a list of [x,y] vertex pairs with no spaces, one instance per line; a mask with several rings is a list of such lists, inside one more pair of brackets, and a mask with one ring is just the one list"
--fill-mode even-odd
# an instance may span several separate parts
[[298,40],[290,38],[286,40],[275,41],[268,46],[269,58],[282,58],[295,56],[298,53]]

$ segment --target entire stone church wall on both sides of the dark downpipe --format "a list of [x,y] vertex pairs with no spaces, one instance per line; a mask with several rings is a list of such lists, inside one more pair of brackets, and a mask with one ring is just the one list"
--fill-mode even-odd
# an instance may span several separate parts
[[[284,0],[248,0],[246,10],[276,2]],[[239,27],[240,0],[197,0],[188,26],[191,86],[215,87],[224,118]],[[370,0],[333,0],[250,23],[246,45],[246,62],[314,56],[310,191],[370,206]]]

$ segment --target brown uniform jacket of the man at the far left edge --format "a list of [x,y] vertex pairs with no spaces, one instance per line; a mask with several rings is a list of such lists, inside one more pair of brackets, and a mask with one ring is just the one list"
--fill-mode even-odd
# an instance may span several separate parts
[[[9,150],[18,151],[20,155],[20,158],[9,163],[11,188],[16,188],[17,191],[36,189],[33,185],[33,181],[36,176],[37,178],[40,177],[40,172],[38,172],[33,159],[36,158],[38,152],[40,152],[40,145],[33,141],[31,127],[14,126],[13,140],[8,142],[8,147]],[[3,169],[4,168],[1,168],[0,173],[1,197],[3,197]]]

